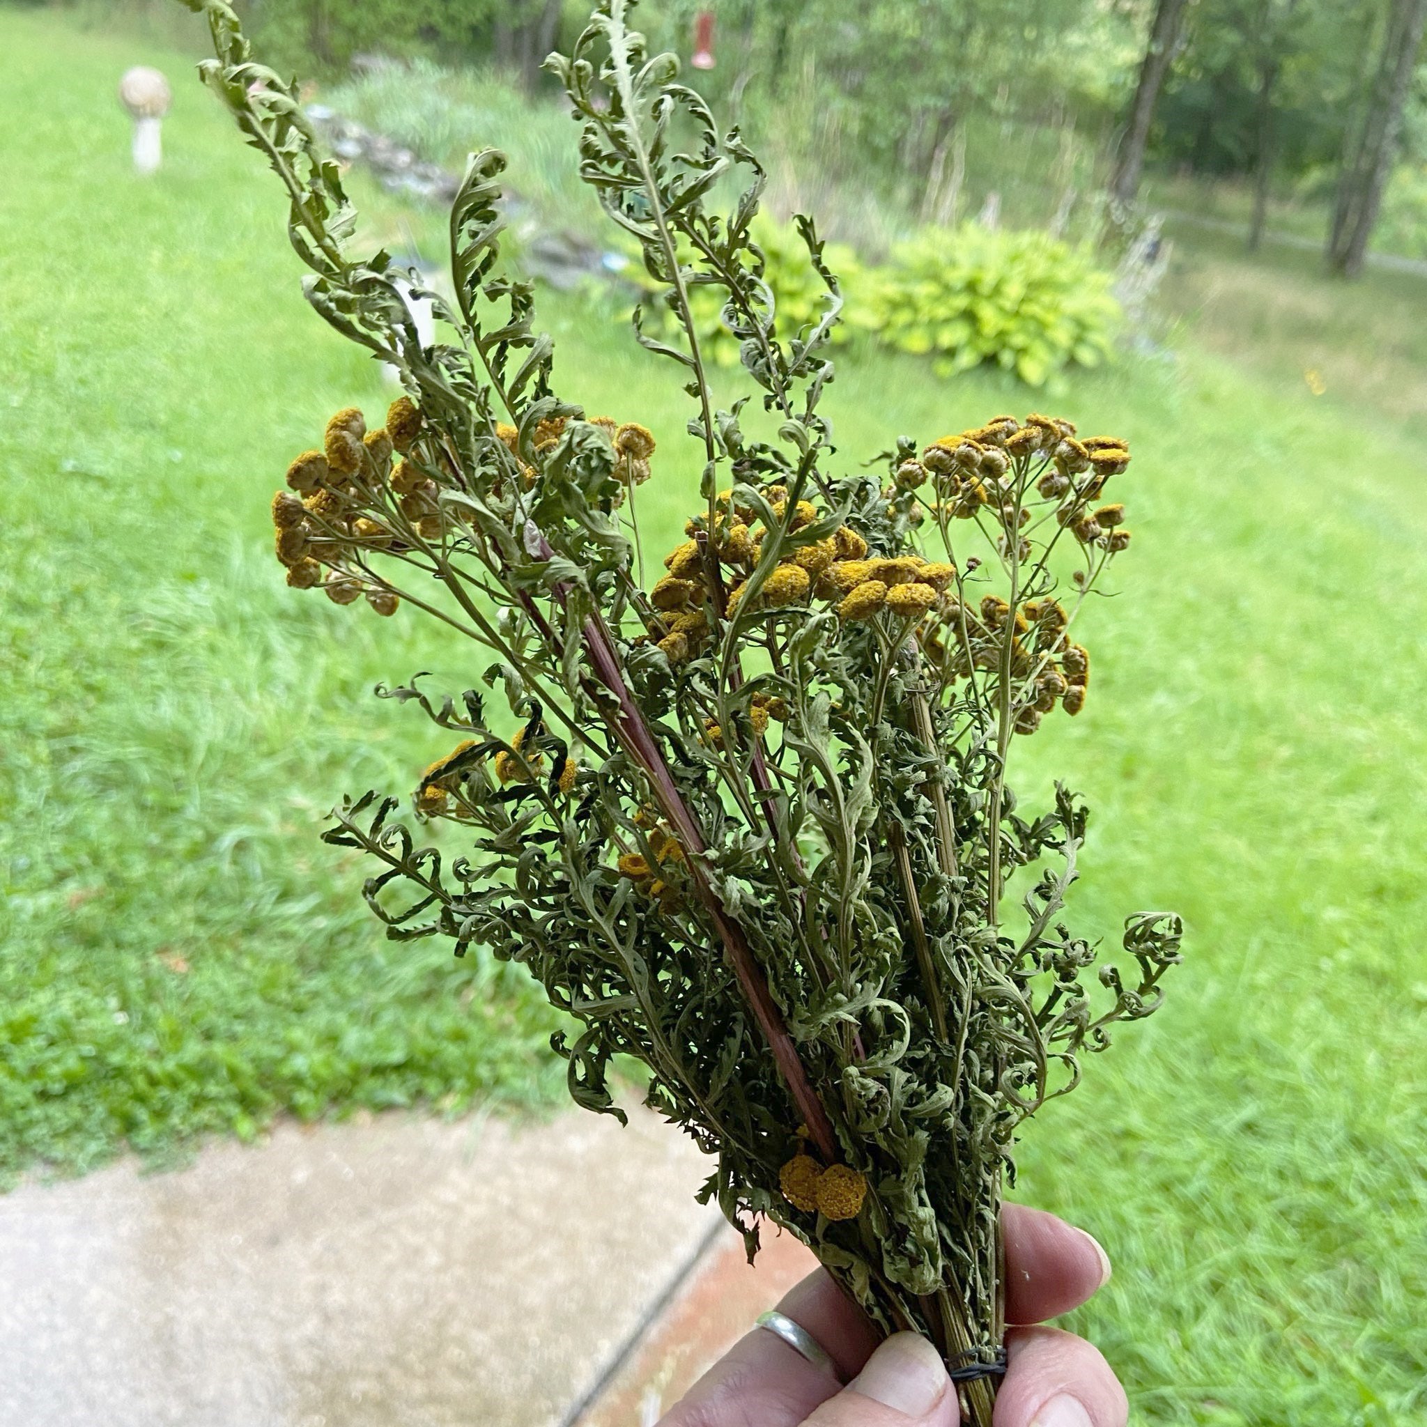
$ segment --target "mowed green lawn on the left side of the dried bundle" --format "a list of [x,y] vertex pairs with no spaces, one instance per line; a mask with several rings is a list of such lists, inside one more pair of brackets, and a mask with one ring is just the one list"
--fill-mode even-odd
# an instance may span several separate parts
[[447,741],[371,698],[441,641],[291,598],[264,549],[323,414],[391,394],[301,301],[191,61],[160,57],[144,183],[114,86],[153,51],[7,10],[0,39],[0,1174],[280,1112],[552,1099],[524,973],[385,942],[318,842]]

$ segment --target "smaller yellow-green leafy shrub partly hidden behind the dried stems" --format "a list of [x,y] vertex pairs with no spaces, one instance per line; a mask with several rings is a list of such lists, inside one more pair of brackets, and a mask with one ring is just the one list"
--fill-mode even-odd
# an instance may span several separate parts
[[[812,265],[808,245],[792,223],[776,223],[773,218],[759,214],[753,220],[752,231],[753,241],[763,250],[768,260],[763,280],[772,288],[773,301],[778,305],[778,337],[788,341],[801,328],[822,315],[828,287]],[[859,290],[862,268],[852,248],[829,243],[823,250],[823,261],[838,274],[848,290],[852,293]],[[628,268],[628,274],[651,297],[665,291],[664,284],[649,277],[638,260]],[[689,297],[705,360],[718,367],[736,367],[739,342],[723,321],[726,297],[723,288],[695,287]],[[676,331],[675,321],[662,303],[646,304],[644,325],[645,331],[661,337]],[[852,325],[843,323],[835,328],[832,340],[846,342],[853,335]]]

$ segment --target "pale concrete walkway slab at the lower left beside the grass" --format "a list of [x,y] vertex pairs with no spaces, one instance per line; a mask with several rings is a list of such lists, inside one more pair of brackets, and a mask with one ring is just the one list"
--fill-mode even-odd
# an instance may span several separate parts
[[723,1256],[706,1173],[644,1113],[384,1116],[24,1186],[0,1197],[0,1424],[557,1427]]

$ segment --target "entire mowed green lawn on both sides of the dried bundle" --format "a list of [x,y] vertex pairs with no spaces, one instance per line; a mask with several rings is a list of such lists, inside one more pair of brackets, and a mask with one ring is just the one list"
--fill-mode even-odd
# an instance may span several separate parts
[[[181,61],[144,184],[110,93],[153,53],[7,11],[0,37],[0,131],[33,136],[0,254],[3,1164],[542,1097],[524,979],[384,942],[317,841],[341,792],[410,788],[445,738],[371,685],[479,674],[405,614],[290,594],[268,555],[287,458],[388,392],[303,305],[281,195]],[[1397,320],[1373,293],[1321,294],[1364,361]],[[661,438],[662,549],[695,499],[678,382],[577,304],[554,327],[561,388]],[[1420,447],[1391,384],[1314,398],[1266,365],[1296,340],[1186,344],[1060,402],[1133,442],[1136,544],[1085,626],[1087,711],[1017,745],[1017,782],[1095,809],[1080,925],[1173,906],[1190,935],[1164,1012],[1027,1127],[1016,1193],[1114,1257],[1075,1326],[1140,1421],[1427,1416]],[[910,358],[841,360],[829,391],[849,462],[1033,404]]]

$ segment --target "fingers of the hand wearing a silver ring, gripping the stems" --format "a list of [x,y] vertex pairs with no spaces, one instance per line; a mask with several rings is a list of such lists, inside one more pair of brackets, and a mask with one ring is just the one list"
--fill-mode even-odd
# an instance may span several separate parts
[[[1124,1427],[1129,1406],[1110,1366],[1085,1339],[1039,1327],[1110,1277],[1104,1250],[1055,1214],[1006,1204],[1006,1377],[996,1427]],[[772,1333],[741,1339],[659,1427],[956,1427],[956,1393],[925,1339],[878,1333],[822,1270],[778,1310],[806,1329],[848,1383]]]

